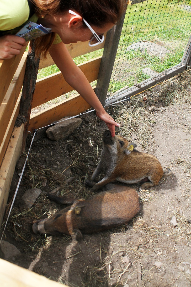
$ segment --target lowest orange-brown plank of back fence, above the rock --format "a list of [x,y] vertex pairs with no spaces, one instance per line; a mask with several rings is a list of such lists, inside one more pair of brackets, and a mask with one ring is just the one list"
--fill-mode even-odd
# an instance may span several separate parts
[[[95,87],[93,89],[95,90]],[[89,108],[91,106],[78,94],[32,115],[28,130],[33,131],[34,129],[50,125],[53,121],[58,121],[63,117],[76,116]]]

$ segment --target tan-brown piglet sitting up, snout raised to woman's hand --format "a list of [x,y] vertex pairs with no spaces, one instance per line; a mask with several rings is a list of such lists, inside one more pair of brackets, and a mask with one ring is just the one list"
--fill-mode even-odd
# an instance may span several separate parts
[[141,191],[158,185],[163,176],[171,174],[170,169],[168,173],[164,173],[155,156],[138,152],[134,149],[136,146],[121,135],[112,137],[109,130],[104,132],[101,160],[89,181],[94,181],[102,171],[105,172],[105,177],[93,186],[93,191],[111,181],[130,184],[144,182],[139,188]]

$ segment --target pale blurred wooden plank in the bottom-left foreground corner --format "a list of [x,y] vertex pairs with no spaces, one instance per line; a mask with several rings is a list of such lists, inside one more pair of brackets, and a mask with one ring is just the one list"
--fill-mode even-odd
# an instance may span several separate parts
[[53,280],[0,259],[1,287],[67,287]]

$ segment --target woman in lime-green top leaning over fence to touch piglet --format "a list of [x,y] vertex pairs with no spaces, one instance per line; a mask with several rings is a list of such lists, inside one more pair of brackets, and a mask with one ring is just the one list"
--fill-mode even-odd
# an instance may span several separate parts
[[0,59],[18,55],[26,42],[15,36],[27,22],[36,22],[52,33],[39,37],[36,53],[49,52],[66,82],[72,86],[102,119],[112,136],[119,127],[104,110],[82,71],[75,65],[65,44],[85,42],[90,45],[103,41],[125,9],[124,0],[1,0],[0,3]]

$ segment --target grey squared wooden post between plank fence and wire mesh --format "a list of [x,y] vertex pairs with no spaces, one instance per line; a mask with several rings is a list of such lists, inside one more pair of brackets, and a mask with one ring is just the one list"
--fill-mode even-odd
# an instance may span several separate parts
[[97,86],[95,90],[95,93],[103,106],[105,105],[109,82],[111,79],[113,65],[115,62],[117,48],[119,45],[119,39],[121,36],[121,30],[123,28],[123,22],[125,19],[125,13],[126,11],[123,13],[118,23],[107,32],[107,36],[105,39],[103,56],[99,68]]

